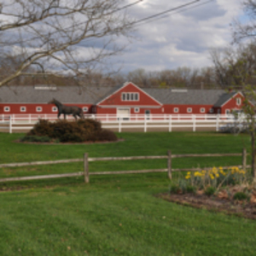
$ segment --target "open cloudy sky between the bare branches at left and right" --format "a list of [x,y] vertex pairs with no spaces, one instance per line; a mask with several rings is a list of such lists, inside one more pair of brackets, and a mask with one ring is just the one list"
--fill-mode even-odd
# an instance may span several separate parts
[[[143,0],[129,9],[129,13],[139,20],[189,2],[191,0]],[[201,0],[195,5],[206,2]],[[241,0],[212,0],[195,9],[191,7],[137,26],[136,39],[114,62],[122,63],[125,73],[137,68],[160,71],[211,66],[209,49],[230,44],[230,23],[234,18],[242,18]]]

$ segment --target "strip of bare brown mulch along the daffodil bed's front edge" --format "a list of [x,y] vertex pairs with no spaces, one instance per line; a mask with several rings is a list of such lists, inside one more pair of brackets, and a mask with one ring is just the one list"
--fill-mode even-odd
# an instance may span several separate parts
[[172,201],[180,205],[195,208],[207,209],[214,212],[224,212],[226,214],[241,216],[244,218],[256,219],[256,203],[248,201],[230,201],[219,199],[218,197],[198,194],[160,194],[156,195],[166,201]]

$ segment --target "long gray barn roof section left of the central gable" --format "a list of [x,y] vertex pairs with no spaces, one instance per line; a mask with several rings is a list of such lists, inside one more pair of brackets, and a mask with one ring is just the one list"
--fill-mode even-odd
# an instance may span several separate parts
[[106,95],[112,87],[79,88],[78,86],[57,86],[56,90],[36,90],[34,86],[0,87],[0,103],[47,103],[53,97],[63,103],[94,104]]

